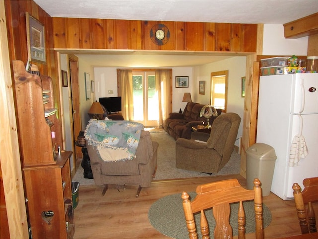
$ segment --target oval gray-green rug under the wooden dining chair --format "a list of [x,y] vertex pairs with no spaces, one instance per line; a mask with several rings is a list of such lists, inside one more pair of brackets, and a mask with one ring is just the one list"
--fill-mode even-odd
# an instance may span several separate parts
[[[189,193],[193,199],[195,192]],[[246,233],[255,232],[255,214],[254,202],[248,201],[243,203],[246,216]],[[238,209],[239,203],[231,204],[230,225],[232,226],[233,235],[238,235]],[[198,230],[198,238],[202,238],[200,232],[200,215],[195,215],[195,224]],[[208,220],[210,238],[213,239],[215,220],[212,209],[205,211],[205,216]],[[172,194],[160,198],[153,203],[148,211],[148,219],[151,225],[160,233],[175,239],[188,239],[188,229],[185,222],[184,212],[182,208],[181,193]],[[266,228],[272,221],[272,215],[268,207],[263,204],[263,225]]]

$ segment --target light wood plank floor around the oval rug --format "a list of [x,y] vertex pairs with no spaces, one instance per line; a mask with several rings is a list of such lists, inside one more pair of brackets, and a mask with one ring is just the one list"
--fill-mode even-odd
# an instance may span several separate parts
[[[102,196],[103,187],[81,185],[79,204],[74,211],[74,239],[168,239],[148,221],[152,203],[166,195],[195,191],[199,184],[230,178],[237,178],[242,186],[246,185],[240,175],[154,181],[151,187],[142,189],[139,198],[135,198],[137,186],[126,186],[123,192],[113,186]],[[263,202],[272,213],[272,222],[265,228],[266,239],[300,234],[293,200],[284,201],[270,193],[263,197]],[[315,210],[317,212],[317,207]]]

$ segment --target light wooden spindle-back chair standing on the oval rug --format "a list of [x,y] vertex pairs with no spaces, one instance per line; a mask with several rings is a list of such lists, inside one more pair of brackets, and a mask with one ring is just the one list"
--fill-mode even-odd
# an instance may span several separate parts
[[262,189],[259,179],[254,180],[254,190],[244,189],[237,179],[218,181],[199,185],[196,189],[197,196],[191,202],[189,194],[182,193],[183,210],[190,239],[197,239],[194,213],[201,211],[200,227],[202,239],[210,239],[209,226],[204,214],[205,209],[213,208],[216,221],[214,238],[232,239],[232,227],[229,223],[230,203],[239,202],[238,224],[239,239],[245,238],[245,212],[243,201],[254,200],[256,239],[264,238]]

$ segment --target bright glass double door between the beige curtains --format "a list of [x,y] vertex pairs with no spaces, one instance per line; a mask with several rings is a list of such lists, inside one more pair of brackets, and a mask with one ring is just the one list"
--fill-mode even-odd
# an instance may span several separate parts
[[159,125],[155,71],[133,71],[134,121],[145,127]]

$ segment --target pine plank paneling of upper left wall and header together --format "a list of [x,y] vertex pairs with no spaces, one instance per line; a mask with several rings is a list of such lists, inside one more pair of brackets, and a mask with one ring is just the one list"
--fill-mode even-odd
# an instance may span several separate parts
[[[52,77],[55,99],[59,96],[54,49],[256,52],[257,24],[52,18],[32,0],[4,4],[11,65],[12,60],[27,63],[25,12],[44,24],[46,64],[33,63],[42,74]],[[170,31],[169,41],[162,46],[154,44],[149,36],[150,29],[158,23]]]

